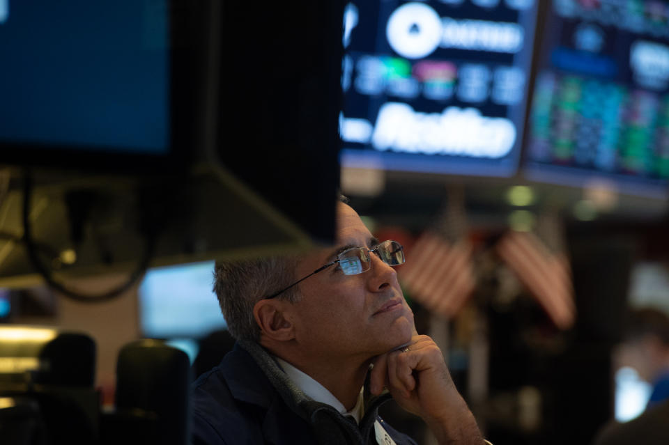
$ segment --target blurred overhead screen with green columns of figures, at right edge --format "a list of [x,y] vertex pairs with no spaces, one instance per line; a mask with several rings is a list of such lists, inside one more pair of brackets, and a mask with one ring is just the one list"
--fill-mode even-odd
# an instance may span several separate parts
[[668,2],[554,0],[542,40],[528,178],[666,196]]

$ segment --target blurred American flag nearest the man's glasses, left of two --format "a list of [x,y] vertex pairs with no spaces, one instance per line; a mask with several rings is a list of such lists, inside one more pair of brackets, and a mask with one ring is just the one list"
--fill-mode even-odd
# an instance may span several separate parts
[[476,286],[473,247],[465,237],[464,215],[461,189],[449,189],[448,205],[440,219],[441,230],[422,233],[398,272],[413,299],[446,318],[452,318],[461,309]]

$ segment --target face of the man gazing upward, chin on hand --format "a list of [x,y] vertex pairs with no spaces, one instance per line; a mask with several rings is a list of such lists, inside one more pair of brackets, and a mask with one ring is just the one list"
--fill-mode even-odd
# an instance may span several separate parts
[[[339,203],[337,245],[303,258],[295,276],[306,276],[351,247],[372,247],[376,240],[357,213]],[[294,304],[296,340],[312,356],[363,359],[408,343],[413,313],[402,295],[397,273],[374,253],[371,268],[344,275],[339,267],[310,276],[300,283],[302,299]]]

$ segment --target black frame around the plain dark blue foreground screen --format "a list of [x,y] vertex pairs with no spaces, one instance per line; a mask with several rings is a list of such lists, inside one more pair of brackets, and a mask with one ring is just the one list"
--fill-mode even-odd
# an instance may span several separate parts
[[[20,143],[0,140],[0,163],[70,169],[86,173],[164,174],[185,171],[205,150],[204,125],[211,119],[206,104],[212,84],[208,68],[215,2],[166,0],[169,32],[168,146],[164,153],[132,148]],[[193,143],[195,141],[195,143]]]

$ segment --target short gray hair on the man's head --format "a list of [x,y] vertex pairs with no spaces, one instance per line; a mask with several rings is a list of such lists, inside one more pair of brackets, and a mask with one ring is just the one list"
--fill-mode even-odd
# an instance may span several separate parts
[[[268,295],[290,286],[295,281],[296,265],[294,256],[216,262],[214,292],[231,336],[259,341],[260,328],[253,316],[253,307]],[[297,302],[298,287],[282,292],[277,298]]]

